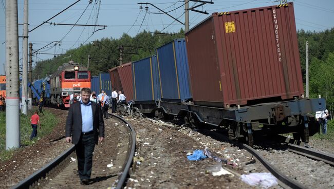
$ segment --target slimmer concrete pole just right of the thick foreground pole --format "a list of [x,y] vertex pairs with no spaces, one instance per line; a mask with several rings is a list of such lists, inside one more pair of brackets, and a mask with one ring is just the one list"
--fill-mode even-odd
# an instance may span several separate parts
[[27,115],[28,109],[28,0],[24,0],[23,7],[23,71],[22,71],[22,108],[21,111]]

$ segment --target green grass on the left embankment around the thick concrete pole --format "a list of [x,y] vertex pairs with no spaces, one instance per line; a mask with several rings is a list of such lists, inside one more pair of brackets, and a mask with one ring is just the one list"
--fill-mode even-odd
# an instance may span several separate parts
[[[42,129],[38,128],[38,136],[30,140],[32,131],[30,117],[33,112],[34,110],[31,110],[28,111],[27,115],[20,115],[21,146],[33,145],[38,138],[49,135],[57,123],[55,116],[51,112],[44,110],[44,116],[43,114],[39,114]],[[0,112],[0,162],[4,162],[13,157],[14,152],[19,149],[20,148],[6,150],[6,113],[2,111]]]

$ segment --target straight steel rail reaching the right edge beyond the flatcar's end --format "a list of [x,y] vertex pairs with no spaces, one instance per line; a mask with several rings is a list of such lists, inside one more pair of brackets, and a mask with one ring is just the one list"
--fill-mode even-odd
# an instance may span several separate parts
[[299,154],[299,155],[302,155],[308,158],[312,158],[314,160],[323,161],[325,163],[330,164],[331,166],[334,166],[334,155],[320,152],[315,149],[301,147],[301,146],[294,145],[294,144],[288,144],[288,150],[290,152],[293,152],[293,153],[296,153],[296,154]]

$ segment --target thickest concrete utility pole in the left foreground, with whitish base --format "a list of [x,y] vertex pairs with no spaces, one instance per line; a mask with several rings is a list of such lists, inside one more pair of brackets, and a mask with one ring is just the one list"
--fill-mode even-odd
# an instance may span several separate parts
[[6,0],[6,149],[20,147],[17,1]]

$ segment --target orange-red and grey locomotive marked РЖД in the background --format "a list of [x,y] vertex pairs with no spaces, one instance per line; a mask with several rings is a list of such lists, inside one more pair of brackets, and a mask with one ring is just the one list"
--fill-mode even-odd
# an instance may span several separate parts
[[82,88],[90,86],[90,71],[85,66],[64,63],[50,76],[50,103],[68,108],[70,94],[78,96]]

